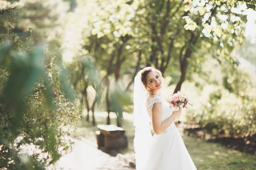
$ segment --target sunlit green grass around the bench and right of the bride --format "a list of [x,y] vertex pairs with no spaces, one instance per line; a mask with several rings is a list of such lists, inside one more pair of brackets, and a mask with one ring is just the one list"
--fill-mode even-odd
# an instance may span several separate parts
[[[106,112],[97,112],[95,116],[97,124],[106,124]],[[116,125],[115,113],[111,113],[111,123]],[[134,127],[132,114],[124,113],[123,128],[128,137],[128,148],[119,150],[119,152],[133,159]],[[91,122],[81,120],[74,135],[84,137],[96,144],[96,130],[97,127],[92,126]],[[228,149],[218,143],[204,142],[185,136],[182,132],[180,134],[198,170],[256,170],[256,156]]]

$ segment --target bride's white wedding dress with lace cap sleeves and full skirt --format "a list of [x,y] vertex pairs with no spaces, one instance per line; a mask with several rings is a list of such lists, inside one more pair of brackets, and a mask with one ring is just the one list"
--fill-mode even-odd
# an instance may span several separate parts
[[[173,109],[162,96],[149,99],[146,106],[151,118],[153,105],[159,102],[162,103],[163,122],[172,115]],[[162,133],[153,135],[146,157],[143,170],[196,170],[174,122]]]

